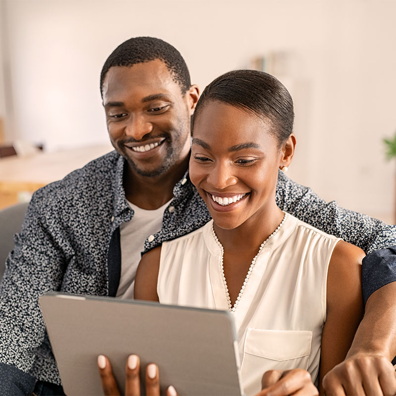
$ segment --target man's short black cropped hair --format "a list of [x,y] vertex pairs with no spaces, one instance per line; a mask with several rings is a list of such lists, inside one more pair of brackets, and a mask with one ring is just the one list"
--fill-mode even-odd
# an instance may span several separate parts
[[190,73],[186,62],[176,48],[154,37],[133,37],[111,52],[100,73],[100,94],[103,96],[103,81],[110,67],[129,67],[136,63],[149,62],[155,59],[160,59],[165,63],[173,80],[180,85],[184,94],[191,86]]

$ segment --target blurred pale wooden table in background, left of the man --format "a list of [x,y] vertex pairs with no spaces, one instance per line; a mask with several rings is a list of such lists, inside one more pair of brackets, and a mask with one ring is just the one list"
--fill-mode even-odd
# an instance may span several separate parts
[[112,150],[110,144],[0,158],[0,209],[29,201],[39,188]]

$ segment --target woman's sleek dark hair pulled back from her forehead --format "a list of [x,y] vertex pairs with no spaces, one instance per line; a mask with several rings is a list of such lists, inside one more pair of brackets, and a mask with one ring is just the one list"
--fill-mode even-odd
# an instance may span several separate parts
[[293,132],[293,99],[274,76],[257,70],[233,70],[213,80],[202,92],[192,118],[194,121],[205,103],[219,101],[270,120],[271,132],[279,146]]

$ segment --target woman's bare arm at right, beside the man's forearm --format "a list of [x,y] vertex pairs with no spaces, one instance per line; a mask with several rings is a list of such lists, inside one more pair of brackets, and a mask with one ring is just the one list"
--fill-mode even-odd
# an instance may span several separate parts
[[327,318],[322,334],[320,394],[324,391],[324,375],[347,356],[363,316],[363,257],[364,251],[359,247],[341,241],[334,248],[330,260],[327,277]]

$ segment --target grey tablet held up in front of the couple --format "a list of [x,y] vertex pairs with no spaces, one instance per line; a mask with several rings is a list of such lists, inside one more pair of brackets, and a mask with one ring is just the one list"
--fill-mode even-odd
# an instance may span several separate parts
[[39,302],[68,396],[103,395],[99,354],[110,359],[123,394],[131,353],[139,355],[142,368],[158,365],[161,395],[169,385],[179,395],[242,394],[230,312],[60,293]]

